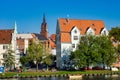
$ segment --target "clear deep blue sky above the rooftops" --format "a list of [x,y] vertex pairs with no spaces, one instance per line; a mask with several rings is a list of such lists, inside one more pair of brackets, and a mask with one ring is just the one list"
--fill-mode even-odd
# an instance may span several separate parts
[[43,14],[49,33],[56,32],[57,18],[103,20],[107,29],[120,26],[120,0],[0,0],[0,29],[17,22],[20,33],[39,33]]

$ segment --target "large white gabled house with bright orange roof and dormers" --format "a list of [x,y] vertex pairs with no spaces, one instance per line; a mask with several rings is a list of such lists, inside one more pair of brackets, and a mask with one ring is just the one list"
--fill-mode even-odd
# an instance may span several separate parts
[[102,20],[78,20],[60,18],[57,20],[56,28],[56,56],[57,67],[63,68],[65,62],[69,61],[71,51],[75,51],[84,35],[108,35]]

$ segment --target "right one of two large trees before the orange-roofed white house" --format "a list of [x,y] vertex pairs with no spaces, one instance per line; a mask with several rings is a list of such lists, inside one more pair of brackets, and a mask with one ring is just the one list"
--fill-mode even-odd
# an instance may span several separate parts
[[103,68],[105,68],[105,65],[110,66],[116,61],[117,58],[115,48],[112,42],[108,37],[100,36],[98,37],[98,45],[98,50],[101,54],[101,63],[103,64]]

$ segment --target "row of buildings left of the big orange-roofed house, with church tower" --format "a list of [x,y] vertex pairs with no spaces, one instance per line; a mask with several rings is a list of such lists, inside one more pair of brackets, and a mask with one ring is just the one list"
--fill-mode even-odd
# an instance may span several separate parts
[[18,33],[15,22],[13,29],[0,30],[0,65],[3,65],[4,54],[11,48],[14,51],[15,67],[21,66],[20,57],[26,55],[29,45],[32,41],[41,41],[45,48],[49,49],[50,54],[56,55],[55,34],[49,36],[48,27],[43,16],[40,33]]

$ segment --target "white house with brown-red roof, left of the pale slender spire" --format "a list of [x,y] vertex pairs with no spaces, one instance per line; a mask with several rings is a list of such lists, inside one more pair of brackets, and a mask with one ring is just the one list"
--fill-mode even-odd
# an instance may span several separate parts
[[0,30],[0,65],[3,65],[3,55],[11,46],[13,29]]

